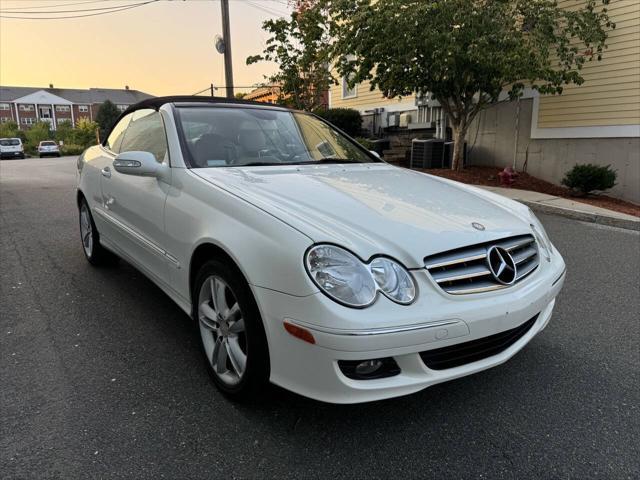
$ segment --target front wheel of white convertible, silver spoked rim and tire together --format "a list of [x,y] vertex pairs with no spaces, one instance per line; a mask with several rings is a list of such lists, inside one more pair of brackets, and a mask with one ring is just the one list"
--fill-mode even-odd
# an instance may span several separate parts
[[236,400],[254,397],[269,378],[262,320],[244,278],[224,262],[206,263],[193,306],[202,349],[216,386]]

